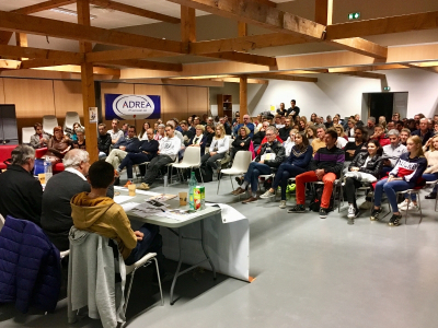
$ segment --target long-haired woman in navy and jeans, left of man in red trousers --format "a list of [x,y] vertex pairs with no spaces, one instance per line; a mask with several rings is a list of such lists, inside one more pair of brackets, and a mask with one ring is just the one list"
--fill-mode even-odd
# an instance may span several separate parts
[[280,209],[286,208],[286,187],[291,177],[304,173],[312,159],[313,150],[309,145],[308,138],[304,133],[297,133],[295,136],[295,145],[290,155],[288,155],[285,163],[281,163],[275,174],[273,187],[267,190],[261,198],[274,197],[278,186],[281,187]]

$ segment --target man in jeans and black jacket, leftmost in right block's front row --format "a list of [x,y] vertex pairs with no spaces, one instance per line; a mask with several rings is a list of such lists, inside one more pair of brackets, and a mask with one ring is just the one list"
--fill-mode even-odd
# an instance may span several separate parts
[[251,196],[243,203],[257,200],[258,176],[270,174],[272,168],[277,168],[285,160],[285,148],[277,140],[277,133],[278,131],[275,127],[266,128],[265,138],[267,142],[262,145],[260,154],[250,164],[242,186],[232,191],[233,195],[244,194],[247,186],[251,185]]

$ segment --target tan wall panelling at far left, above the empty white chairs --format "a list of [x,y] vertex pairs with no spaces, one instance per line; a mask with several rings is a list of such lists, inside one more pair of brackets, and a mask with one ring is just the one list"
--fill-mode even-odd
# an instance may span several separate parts
[[23,127],[33,127],[35,122],[42,122],[44,115],[55,115],[53,82],[53,80],[3,79],[5,104],[15,105],[20,140]]

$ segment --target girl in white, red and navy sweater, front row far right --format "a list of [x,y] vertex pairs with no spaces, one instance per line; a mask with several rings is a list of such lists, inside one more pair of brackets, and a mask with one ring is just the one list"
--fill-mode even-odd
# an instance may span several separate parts
[[382,212],[381,202],[384,191],[393,212],[388,224],[400,225],[402,215],[399,211],[395,192],[413,189],[422,180],[422,175],[427,167],[427,160],[422,149],[422,139],[418,136],[411,137],[407,139],[406,148],[407,153],[401,155],[395,167],[390,172],[389,178],[382,179],[376,185],[374,208],[371,212],[371,221],[379,220],[379,215]]

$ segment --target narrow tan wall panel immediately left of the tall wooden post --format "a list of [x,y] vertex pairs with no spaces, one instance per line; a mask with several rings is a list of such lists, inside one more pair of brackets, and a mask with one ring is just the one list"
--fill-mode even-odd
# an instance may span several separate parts
[[55,113],[64,124],[67,112],[77,112],[83,125],[82,87],[80,81],[54,81]]

